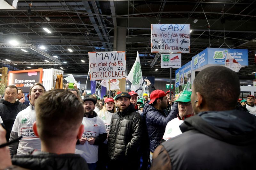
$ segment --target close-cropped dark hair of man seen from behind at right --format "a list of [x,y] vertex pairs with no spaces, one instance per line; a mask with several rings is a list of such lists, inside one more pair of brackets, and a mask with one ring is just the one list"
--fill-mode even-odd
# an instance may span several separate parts
[[194,91],[203,96],[204,103],[212,111],[234,109],[240,95],[236,72],[224,66],[211,66],[200,71],[193,85]]

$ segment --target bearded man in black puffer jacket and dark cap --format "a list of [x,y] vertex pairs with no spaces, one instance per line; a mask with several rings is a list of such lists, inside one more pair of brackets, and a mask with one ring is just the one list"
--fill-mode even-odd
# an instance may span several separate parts
[[142,122],[130,102],[131,95],[116,96],[118,110],[113,114],[108,134],[108,169],[138,169],[138,148],[142,139]]

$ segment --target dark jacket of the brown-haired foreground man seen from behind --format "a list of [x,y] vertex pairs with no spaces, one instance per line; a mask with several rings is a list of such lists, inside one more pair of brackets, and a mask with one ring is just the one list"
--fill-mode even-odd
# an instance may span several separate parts
[[14,156],[12,164],[32,170],[89,170],[85,159],[72,153],[58,155],[36,151],[31,155]]

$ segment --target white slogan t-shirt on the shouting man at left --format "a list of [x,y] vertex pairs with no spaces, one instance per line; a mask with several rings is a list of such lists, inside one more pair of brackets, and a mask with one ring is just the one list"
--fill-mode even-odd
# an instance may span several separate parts
[[41,150],[41,140],[35,135],[33,130],[33,123],[35,121],[36,112],[29,107],[18,113],[12,126],[12,132],[18,133],[19,137],[22,136],[17,149],[17,155],[25,155],[34,149]]

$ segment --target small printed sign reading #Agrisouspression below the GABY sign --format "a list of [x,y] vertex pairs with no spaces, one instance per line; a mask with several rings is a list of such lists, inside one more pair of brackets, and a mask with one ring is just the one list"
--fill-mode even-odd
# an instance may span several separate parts
[[181,54],[161,54],[161,68],[170,67],[181,67]]

